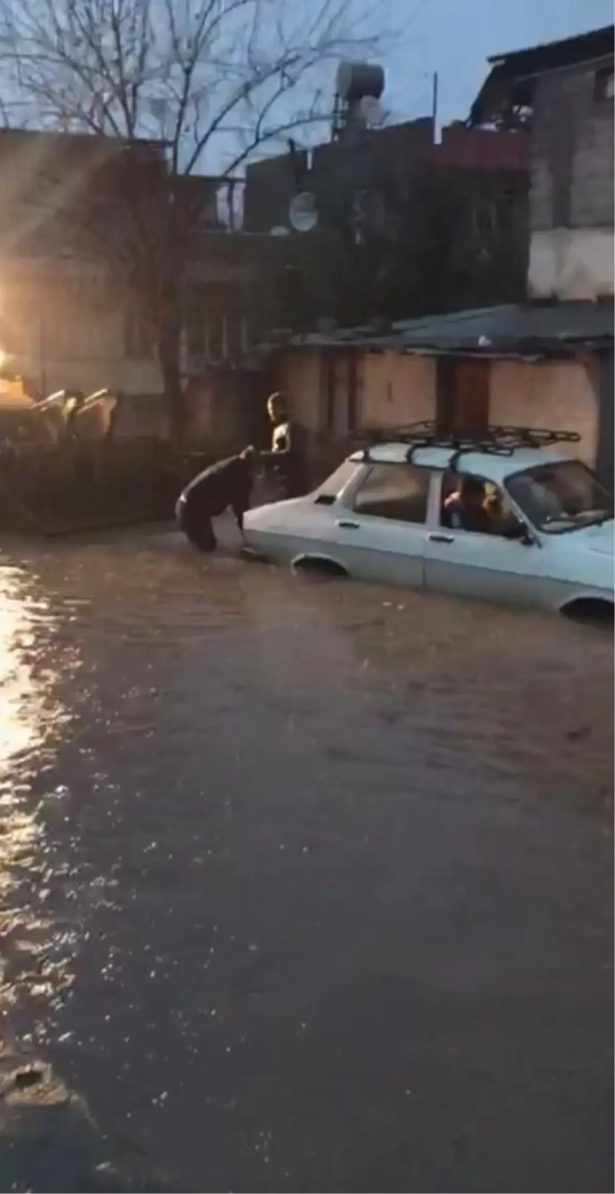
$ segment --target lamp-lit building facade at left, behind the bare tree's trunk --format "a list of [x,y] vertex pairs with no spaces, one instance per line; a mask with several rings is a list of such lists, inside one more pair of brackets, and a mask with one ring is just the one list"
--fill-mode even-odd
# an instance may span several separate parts
[[[161,396],[156,344],[131,282],[130,240],[122,224],[127,199],[168,185],[161,147],[1,130],[0,162],[5,365],[38,398],[103,387]],[[217,179],[176,181],[182,197],[189,190],[187,202],[201,209],[182,312],[187,381],[250,361],[279,247],[269,236],[234,233],[220,222]]]

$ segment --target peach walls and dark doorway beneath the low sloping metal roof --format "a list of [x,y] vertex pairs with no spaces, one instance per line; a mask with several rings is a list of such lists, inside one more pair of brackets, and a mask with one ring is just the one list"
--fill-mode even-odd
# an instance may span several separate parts
[[352,350],[352,395],[350,351],[336,350],[333,389],[327,383],[331,357],[326,350],[281,352],[276,364],[276,383],[291,394],[293,410],[309,429],[316,455],[343,456],[359,430],[429,419],[443,426],[450,420],[454,430],[469,435],[480,435],[487,424],[577,431],[578,455],[596,464],[599,363],[591,353],[579,351],[566,359],[460,357],[451,399],[443,386],[447,371],[450,377],[450,358],[428,351]]

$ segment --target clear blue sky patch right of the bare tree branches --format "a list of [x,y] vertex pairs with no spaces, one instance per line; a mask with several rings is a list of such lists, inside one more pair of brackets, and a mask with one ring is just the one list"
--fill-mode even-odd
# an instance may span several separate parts
[[387,55],[387,106],[394,117],[431,106],[439,76],[441,118],[468,113],[490,54],[570,37],[615,21],[613,0],[398,0],[393,24],[407,12],[405,44]]

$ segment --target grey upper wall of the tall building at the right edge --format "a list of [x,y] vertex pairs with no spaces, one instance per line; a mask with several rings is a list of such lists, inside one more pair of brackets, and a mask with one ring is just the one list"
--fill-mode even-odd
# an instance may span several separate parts
[[[615,68],[601,62],[599,69]],[[615,295],[615,103],[596,68],[543,75],[531,130],[530,260],[534,297]]]

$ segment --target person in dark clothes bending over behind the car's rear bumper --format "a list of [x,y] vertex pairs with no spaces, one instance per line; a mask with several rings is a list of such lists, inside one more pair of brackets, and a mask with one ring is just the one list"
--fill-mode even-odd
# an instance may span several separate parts
[[250,509],[258,453],[245,448],[239,456],[230,456],[211,464],[195,476],[180,494],[176,516],[186,538],[199,552],[213,552],[217,546],[211,519],[229,506],[244,536],[244,515]]

